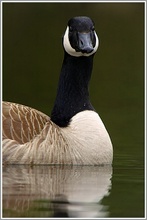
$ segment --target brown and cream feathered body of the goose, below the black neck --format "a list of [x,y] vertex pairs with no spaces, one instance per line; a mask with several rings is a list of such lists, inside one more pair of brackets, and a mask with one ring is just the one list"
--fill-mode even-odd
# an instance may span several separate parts
[[[26,114],[28,107],[8,102],[3,104],[7,106],[7,118],[13,125],[9,129],[5,129],[3,135],[4,163],[94,165],[107,164],[112,161],[111,141],[107,133],[102,135],[105,127],[97,113],[93,111],[81,112],[73,117],[68,127],[60,128],[48,116],[31,109],[31,122],[26,123],[24,114],[14,114],[17,124],[13,124],[11,122],[14,120],[14,117],[11,118],[12,113],[24,111]],[[3,110],[3,115],[6,115],[4,112]],[[5,117],[3,118],[6,123]],[[95,124],[96,119],[97,124]],[[44,127],[37,126],[38,130],[35,129],[33,133],[31,129],[35,127],[37,120],[41,120]],[[93,122],[91,126],[89,126],[89,121]],[[18,133],[16,125],[19,124],[24,129],[23,132]],[[95,124],[94,128],[93,124]],[[27,129],[28,125],[29,129]],[[14,135],[15,133],[17,135]],[[24,137],[28,137],[25,143]]]

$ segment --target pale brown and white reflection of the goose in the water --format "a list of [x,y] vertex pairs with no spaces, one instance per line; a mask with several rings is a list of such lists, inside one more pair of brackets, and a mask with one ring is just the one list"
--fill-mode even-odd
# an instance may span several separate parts
[[111,166],[6,166],[3,217],[106,217]]

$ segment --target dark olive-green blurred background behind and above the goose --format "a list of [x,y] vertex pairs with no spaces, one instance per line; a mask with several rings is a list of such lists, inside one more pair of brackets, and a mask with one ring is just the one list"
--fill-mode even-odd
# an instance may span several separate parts
[[[144,155],[144,3],[3,3],[3,100],[48,115],[69,18],[95,22],[99,49],[90,97],[114,145],[114,162]],[[130,161],[130,163],[132,163]]]

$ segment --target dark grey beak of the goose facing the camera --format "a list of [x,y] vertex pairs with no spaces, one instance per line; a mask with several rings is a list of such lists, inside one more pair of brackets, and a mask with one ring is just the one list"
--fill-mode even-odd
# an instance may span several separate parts
[[76,48],[76,51],[87,54],[91,53],[94,50],[92,45],[91,33],[78,32],[77,35],[78,35],[78,47]]

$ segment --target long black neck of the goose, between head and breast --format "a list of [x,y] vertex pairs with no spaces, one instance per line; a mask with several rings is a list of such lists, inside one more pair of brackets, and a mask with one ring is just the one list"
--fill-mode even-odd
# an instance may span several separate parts
[[88,83],[93,67],[93,55],[73,57],[65,52],[51,120],[65,127],[78,112],[94,110],[89,100]]

